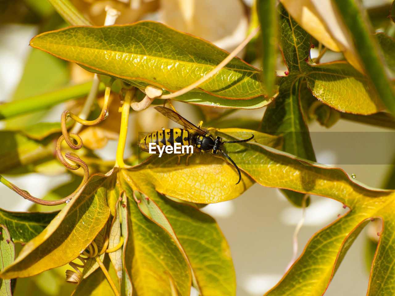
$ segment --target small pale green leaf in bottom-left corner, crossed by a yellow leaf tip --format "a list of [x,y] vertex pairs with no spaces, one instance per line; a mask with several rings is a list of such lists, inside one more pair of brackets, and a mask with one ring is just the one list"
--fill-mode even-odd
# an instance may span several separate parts
[[[0,232],[0,271],[2,271],[15,259],[15,245],[11,241],[7,227],[0,224]],[[11,279],[0,279],[0,295],[12,296]]]

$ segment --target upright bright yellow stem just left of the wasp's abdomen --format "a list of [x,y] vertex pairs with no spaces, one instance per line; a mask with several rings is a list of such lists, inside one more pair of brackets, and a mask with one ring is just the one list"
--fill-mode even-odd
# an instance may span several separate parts
[[128,134],[128,121],[129,121],[129,109],[130,102],[132,101],[132,97],[134,96],[135,89],[132,88],[126,91],[125,99],[121,107],[121,127],[119,131],[119,140],[117,147],[117,156],[115,158],[115,167],[126,168],[129,167],[125,165],[123,161],[123,155],[126,145],[126,135]]

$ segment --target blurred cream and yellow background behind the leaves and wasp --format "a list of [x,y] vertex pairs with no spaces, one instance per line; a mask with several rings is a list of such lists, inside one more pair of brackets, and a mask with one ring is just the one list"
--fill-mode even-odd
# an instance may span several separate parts
[[[139,19],[164,22],[183,32],[214,42],[227,51],[231,51],[244,39],[252,5],[252,1],[239,0],[200,0],[199,4],[192,0],[72,2],[95,24],[103,23],[103,8],[110,4],[121,12],[117,20],[119,23]],[[374,27],[380,30],[383,11],[389,8],[391,1],[371,0],[364,1],[364,4],[371,11]],[[78,66],[70,65],[38,50],[32,51],[28,46],[29,40],[39,32],[62,26],[64,22],[54,15],[46,0],[0,0],[0,103],[34,96],[68,83],[92,79],[90,73],[85,73]],[[244,54],[246,52],[241,52],[240,56]],[[318,55],[318,52],[312,51],[313,58],[314,54]],[[339,58],[339,54],[329,52],[325,58],[335,60]],[[325,58],[322,62],[326,61]],[[252,62],[254,66],[259,67],[259,60]],[[281,61],[278,62],[278,69],[285,70]],[[58,122],[66,105],[60,104],[51,110],[7,122],[0,121],[0,127]],[[201,119],[194,106],[183,103],[175,103],[174,106],[192,122]],[[132,112],[131,124],[145,131],[154,130],[154,122],[158,118],[148,115],[149,112],[147,110],[144,118]],[[240,110],[226,119],[246,118],[259,122],[263,112],[264,108]],[[151,114],[154,114],[154,111]],[[395,146],[392,130],[342,119],[331,129],[320,126],[318,122],[312,122],[309,129],[319,163],[340,167],[348,174],[354,174],[356,180],[369,186],[384,185],[387,173],[392,169]],[[134,130],[130,139],[135,139],[136,128],[130,130]],[[116,133],[116,128],[112,132]],[[117,141],[112,137],[108,137],[106,141],[107,144],[103,148],[97,148],[95,153],[105,160],[113,160]],[[133,147],[130,147],[128,153],[132,153],[132,150]],[[27,173],[18,176],[8,174],[5,177],[36,197],[45,197],[59,185],[73,181],[70,174],[49,176]],[[5,210],[28,211],[32,204],[0,184],[0,206]],[[216,219],[228,240],[236,270],[237,295],[263,295],[271,289],[284,275],[292,258],[292,236],[295,225],[302,217],[302,209],[290,204],[278,189],[255,184],[235,200],[210,204],[202,210]],[[311,204],[306,209],[305,223],[298,235],[298,254],[301,254],[304,245],[315,232],[347,211],[348,208],[342,208],[342,204],[335,200],[312,196]],[[366,293],[374,250],[372,246],[374,247],[373,241],[376,239],[374,236],[380,231],[377,227],[380,226],[369,223],[361,232],[340,265],[325,296]],[[370,238],[373,238],[373,241]],[[63,274],[64,268],[58,268],[30,279],[19,279],[16,295],[70,295],[74,286],[64,282]]]

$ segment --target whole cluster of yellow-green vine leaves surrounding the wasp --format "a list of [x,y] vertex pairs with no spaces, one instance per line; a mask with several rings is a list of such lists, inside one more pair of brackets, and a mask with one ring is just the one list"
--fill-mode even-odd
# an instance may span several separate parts
[[[70,24],[90,24],[68,1],[50,2]],[[364,73],[345,61],[316,64],[310,58],[310,49],[318,41],[292,19],[282,4],[275,10],[275,1],[258,1],[258,15],[265,29],[249,47],[259,49],[263,42],[265,50],[258,54],[263,70],[234,58],[211,80],[175,98],[195,105],[234,109],[268,105],[259,128],[213,131],[224,141],[254,134],[252,142],[225,148],[242,170],[240,184],[235,185],[234,167],[214,155],[205,155],[203,163],[201,155],[194,154],[188,166],[177,164],[174,155],[150,157],[139,165],[130,159],[135,166],[125,169],[112,168],[89,148],[82,149],[79,156],[95,174],[78,198],[71,199],[59,212],[1,210],[4,231],[0,251],[8,259],[3,260],[6,268],[0,266],[0,277],[5,279],[1,291],[10,295],[8,279],[31,277],[67,264],[92,241],[100,249],[108,236],[108,249],[123,240],[122,248],[108,256],[100,255],[120,294],[131,295],[133,290],[137,295],[189,295],[193,285],[201,295],[235,295],[228,244],[214,219],[196,204],[234,199],[257,182],[283,189],[295,205],[302,204],[305,194],[313,194],[338,200],[350,208],[311,238],[301,257],[267,295],[323,294],[357,234],[375,218],[382,219],[384,227],[372,264],[368,295],[393,294],[395,192],[369,188],[340,169],[316,163],[308,134],[307,122],[312,115],[326,126],[341,116],[356,121],[376,120],[382,126],[393,126],[394,122],[380,111],[384,105],[395,110],[393,83],[382,79],[386,75],[384,67],[395,73],[395,41],[384,33],[371,36],[365,27],[369,23],[360,11],[352,14],[355,24],[350,24],[344,11],[355,8],[352,1],[336,3],[355,40],[365,40],[369,45],[357,46]],[[263,18],[263,11],[273,14]],[[274,75],[277,41],[273,40],[278,41],[288,68],[278,77]],[[103,81],[110,76],[140,90],[154,85],[165,94],[195,82],[227,56],[207,41],[152,21],[62,28],[42,33],[30,44],[98,73]],[[40,54],[58,61],[45,52]],[[385,62],[377,58],[381,54]],[[43,75],[54,77],[50,72]],[[64,83],[63,79],[54,84]],[[41,111],[84,96],[89,88],[87,82],[1,105],[0,119]],[[374,119],[370,119],[372,116]],[[2,131],[0,172],[64,172],[53,157],[59,132],[59,123]],[[7,240],[26,243],[12,264],[13,246]],[[73,295],[114,293],[98,267],[94,259],[87,260],[83,281]]]

